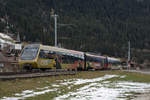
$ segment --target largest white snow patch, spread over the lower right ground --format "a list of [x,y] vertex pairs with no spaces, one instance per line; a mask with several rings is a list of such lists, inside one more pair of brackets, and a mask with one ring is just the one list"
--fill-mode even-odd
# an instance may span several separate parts
[[137,82],[93,82],[55,100],[126,100],[132,93],[150,92],[150,84]]

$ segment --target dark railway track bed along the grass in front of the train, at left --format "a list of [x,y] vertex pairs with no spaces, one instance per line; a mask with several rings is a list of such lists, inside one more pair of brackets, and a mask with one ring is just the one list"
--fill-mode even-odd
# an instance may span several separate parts
[[36,72],[6,72],[0,73],[0,80],[13,80],[23,78],[36,78],[47,76],[59,76],[59,75],[75,75],[76,71],[67,70],[53,70],[53,71],[36,71]]

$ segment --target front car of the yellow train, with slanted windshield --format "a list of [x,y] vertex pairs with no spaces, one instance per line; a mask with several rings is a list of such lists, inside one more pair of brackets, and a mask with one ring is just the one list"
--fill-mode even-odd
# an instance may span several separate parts
[[58,47],[31,44],[24,47],[20,59],[20,68],[31,69],[77,69],[78,61],[83,61],[84,53]]

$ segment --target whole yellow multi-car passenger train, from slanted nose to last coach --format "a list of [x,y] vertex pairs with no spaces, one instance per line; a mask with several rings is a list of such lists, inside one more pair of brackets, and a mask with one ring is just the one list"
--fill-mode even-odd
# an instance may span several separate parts
[[116,63],[120,60],[42,44],[25,46],[19,58],[19,66],[24,70],[101,70],[111,69]]

